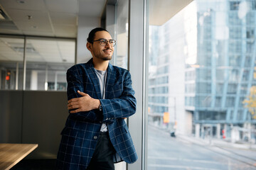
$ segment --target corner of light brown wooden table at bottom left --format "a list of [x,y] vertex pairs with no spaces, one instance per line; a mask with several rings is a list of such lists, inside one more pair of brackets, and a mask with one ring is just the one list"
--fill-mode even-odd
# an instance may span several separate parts
[[11,169],[36,147],[38,147],[38,144],[0,143],[0,169]]

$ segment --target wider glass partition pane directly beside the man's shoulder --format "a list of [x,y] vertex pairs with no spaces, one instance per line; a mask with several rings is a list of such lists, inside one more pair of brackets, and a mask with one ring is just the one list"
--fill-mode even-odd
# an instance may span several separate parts
[[75,63],[75,41],[28,39],[26,90],[65,91],[65,73]]

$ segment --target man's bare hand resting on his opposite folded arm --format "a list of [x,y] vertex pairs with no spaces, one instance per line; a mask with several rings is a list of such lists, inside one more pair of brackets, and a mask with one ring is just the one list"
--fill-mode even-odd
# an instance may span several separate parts
[[100,106],[100,100],[91,98],[88,94],[78,91],[82,97],[72,98],[68,101],[68,110],[75,109],[70,111],[70,113],[78,113],[81,111],[91,111],[97,109]]

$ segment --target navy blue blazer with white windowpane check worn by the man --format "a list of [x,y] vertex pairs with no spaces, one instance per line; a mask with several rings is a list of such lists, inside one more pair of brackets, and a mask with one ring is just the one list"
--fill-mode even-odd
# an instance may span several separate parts
[[95,151],[102,123],[107,124],[110,140],[116,151],[114,162],[124,160],[133,163],[137,154],[127,124],[136,111],[136,98],[132,89],[131,75],[126,69],[109,64],[105,99],[102,99],[100,83],[92,59],[68,69],[68,100],[81,97],[78,90],[100,99],[102,113],[98,110],[70,113],[61,132],[58,150],[58,169],[86,169]]

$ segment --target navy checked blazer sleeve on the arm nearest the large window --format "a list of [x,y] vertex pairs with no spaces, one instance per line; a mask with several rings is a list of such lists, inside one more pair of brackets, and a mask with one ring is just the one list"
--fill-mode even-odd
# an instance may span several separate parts
[[123,81],[123,91],[119,98],[100,99],[102,105],[103,123],[113,122],[117,118],[128,118],[136,112],[136,98],[132,89],[131,74],[126,72]]

